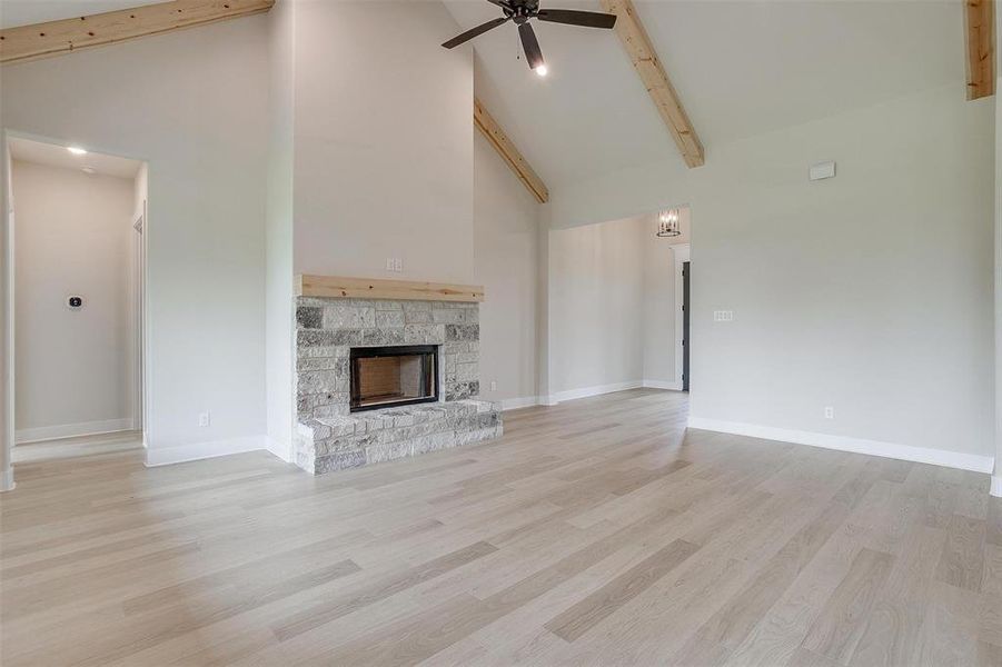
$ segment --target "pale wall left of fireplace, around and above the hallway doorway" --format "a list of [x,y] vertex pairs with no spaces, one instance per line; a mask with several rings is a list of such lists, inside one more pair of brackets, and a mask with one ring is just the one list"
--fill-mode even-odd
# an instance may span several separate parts
[[4,128],[149,161],[149,462],[265,446],[268,19],[2,69]]

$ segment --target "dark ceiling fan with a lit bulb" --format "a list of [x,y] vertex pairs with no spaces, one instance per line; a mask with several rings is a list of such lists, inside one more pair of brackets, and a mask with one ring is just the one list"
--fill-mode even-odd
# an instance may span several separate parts
[[487,0],[487,2],[497,4],[505,12],[505,16],[482,23],[476,28],[470,28],[442,46],[446,49],[458,47],[478,34],[483,34],[508,21],[514,21],[518,26],[518,37],[522,39],[522,48],[525,50],[525,59],[529,64],[529,69],[540,77],[546,76],[546,63],[543,61],[543,51],[539,49],[536,33],[529,24],[530,19],[539,19],[552,23],[566,23],[568,26],[584,26],[585,28],[609,29],[616,24],[616,14],[579,11],[576,9],[539,9],[539,0]]

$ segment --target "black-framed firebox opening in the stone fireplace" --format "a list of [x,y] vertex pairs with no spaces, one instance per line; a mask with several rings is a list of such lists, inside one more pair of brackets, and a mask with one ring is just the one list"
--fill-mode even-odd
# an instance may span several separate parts
[[434,345],[351,348],[351,411],[438,400]]

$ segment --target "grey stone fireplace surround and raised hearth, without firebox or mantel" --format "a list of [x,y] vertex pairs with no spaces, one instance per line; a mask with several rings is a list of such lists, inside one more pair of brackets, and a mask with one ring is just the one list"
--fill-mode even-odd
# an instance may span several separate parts
[[[350,412],[353,347],[435,345],[439,402]],[[300,297],[296,462],[328,472],[502,435],[479,384],[479,307],[452,301]]]

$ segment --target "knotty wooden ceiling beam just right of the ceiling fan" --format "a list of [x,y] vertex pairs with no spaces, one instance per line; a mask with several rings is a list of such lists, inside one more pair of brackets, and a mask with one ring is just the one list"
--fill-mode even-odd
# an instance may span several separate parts
[[647,31],[637,16],[636,8],[631,0],[602,0],[603,9],[608,13],[616,14],[616,34],[633,67],[636,69],[644,88],[651,96],[654,106],[657,107],[658,113],[672,139],[678,147],[682,158],[690,167],[702,167],[705,161],[703,157],[703,145],[696,136],[692,121],[678,99],[678,93],[672,86],[668,74],[665,73],[657,58],[657,52],[647,37]]

